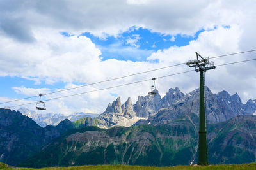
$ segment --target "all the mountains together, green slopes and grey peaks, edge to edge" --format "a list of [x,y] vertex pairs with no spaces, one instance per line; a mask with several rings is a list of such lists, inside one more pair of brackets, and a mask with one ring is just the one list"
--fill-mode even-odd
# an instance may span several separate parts
[[[207,87],[205,98],[209,162],[255,162],[255,100],[243,104],[238,94],[212,94]],[[97,118],[56,126],[40,127],[20,111],[0,109],[0,161],[23,167],[190,164],[197,159],[198,108],[198,89],[171,88],[163,98],[157,92],[135,104],[118,97]]]

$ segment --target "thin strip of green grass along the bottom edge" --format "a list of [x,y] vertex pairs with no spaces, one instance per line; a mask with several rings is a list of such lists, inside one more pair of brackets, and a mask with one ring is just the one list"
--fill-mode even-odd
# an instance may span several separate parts
[[[32,169],[32,168],[11,168],[6,167],[5,164],[0,162],[0,169]],[[62,170],[62,169],[72,169],[72,170],[78,170],[78,169],[113,169],[113,170],[121,170],[121,169],[129,169],[129,170],[146,170],[146,169],[170,169],[170,170],[178,170],[178,169],[184,169],[184,170],[196,170],[196,169],[218,169],[218,170],[256,170],[256,162],[250,163],[250,164],[233,164],[233,165],[209,165],[209,166],[172,166],[172,167],[154,167],[154,166],[126,166],[126,165],[97,165],[97,166],[74,166],[74,167],[46,167],[42,168],[40,170],[44,169],[50,169],[50,170]]]

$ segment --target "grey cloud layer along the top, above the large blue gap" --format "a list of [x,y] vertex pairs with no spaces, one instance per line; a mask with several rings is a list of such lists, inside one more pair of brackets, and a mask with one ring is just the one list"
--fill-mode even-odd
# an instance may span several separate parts
[[[66,0],[60,3],[12,0],[1,1],[0,10],[3,34],[20,41],[33,41],[31,31],[38,27],[116,36],[135,25],[166,34],[193,35],[202,27],[234,24],[234,20],[241,18],[244,8],[241,8],[241,1]],[[12,25],[13,31],[8,31],[8,25]]]

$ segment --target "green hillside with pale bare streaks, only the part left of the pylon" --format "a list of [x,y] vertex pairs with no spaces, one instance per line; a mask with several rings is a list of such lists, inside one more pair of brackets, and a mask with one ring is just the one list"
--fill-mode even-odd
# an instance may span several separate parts
[[195,153],[195,138],[196,131],[186,124],[72,129],[17,166],[189,164]]

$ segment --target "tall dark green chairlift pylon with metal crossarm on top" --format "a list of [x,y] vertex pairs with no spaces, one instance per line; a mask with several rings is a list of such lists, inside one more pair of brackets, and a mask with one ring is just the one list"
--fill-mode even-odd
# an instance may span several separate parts
[[[198,58],[200,57],[200,58]],[[204,93],[204,72],[215,69],[214,62],[209,62],[209,57],[202,57],[196,52],[196,60],[189,60],[186,63],[189,67],[195,67],[200,72],[200,104],[199,104],[199,135],[198,135],[198,165],[208,165],[207,139],[205,124],[205,93]]]

